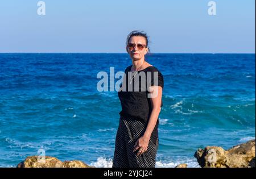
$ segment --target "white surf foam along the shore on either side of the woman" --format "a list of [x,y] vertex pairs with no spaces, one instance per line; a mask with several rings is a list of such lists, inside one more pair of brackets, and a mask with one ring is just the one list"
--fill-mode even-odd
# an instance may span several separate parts
[[[199,168],[199,164],[196,159],[180,159],[177,161],[156,161],[156,168],[174,168],[179,164],[188,164],[188,168]],[[90,166],[95,166],[96,168],[112,168],[112,159],[107,159],[106,157],[98,157],[96,162],[90,163]]]

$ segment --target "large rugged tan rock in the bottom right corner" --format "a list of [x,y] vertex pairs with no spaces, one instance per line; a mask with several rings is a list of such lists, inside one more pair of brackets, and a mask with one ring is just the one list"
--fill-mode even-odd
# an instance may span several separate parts
[[207,146],[198,149],[194,156],[199,165],[205,168],[255,167],[255,139],[227,151],[221,147]]

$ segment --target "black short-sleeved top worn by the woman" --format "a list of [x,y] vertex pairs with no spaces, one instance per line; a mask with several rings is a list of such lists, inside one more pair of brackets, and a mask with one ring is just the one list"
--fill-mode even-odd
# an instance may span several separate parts
[[[122,106],[122,110],[119,114],[127,118],[131,117],[133,119],[141,120],[147,124],[152,111],[150,97],[148,96],[148,87],[154,85],[162,86],[163,88],[163,75],[157,68],[155,68],[155,66],[148,66],[143,70],[139,70],[135,75],[136,72],[131,72],[132,66],[133,65],[130,65],[125,69],[125,76],[120,85],[121,88],[118,91],[118,97]],[[129,74],[133,74],[133,76],[130,76]],[[132,78],[133,82],[130,84]],[[163,102],[161,101],[161,107],[162,106]],[[158,138],[158,124],[159,118],[151,134],[151,139],[154,142],[156,141],[156,138]]]

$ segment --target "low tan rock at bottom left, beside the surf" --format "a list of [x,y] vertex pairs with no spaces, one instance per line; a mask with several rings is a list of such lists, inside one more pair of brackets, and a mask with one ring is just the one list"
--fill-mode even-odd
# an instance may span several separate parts
[[[40,156],[41,157],[41,156]],[[45,160],[39,156],[28,156],[17,165],[17,168],[91,168],[80,160],[60,161],[56,157],[46,156]]]

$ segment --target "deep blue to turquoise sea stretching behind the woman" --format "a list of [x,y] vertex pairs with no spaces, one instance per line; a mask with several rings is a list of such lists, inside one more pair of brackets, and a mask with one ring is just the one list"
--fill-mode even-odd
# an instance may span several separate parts
[[[156,167],[199,167],[198,148],[255,139],[255,54],[152,53],[164,77]],[[0,167],[27,156],[111,167],[121,104],[98,72],[125,53],[0,53]],[[117,81],[118,79],[115,79]]]

